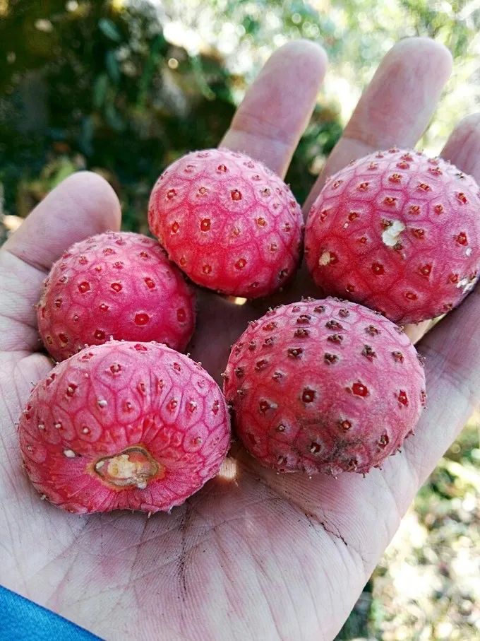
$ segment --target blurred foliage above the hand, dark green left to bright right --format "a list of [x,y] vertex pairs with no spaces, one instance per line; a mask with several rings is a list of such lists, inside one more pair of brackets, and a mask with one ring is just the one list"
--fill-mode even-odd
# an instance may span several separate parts
[[462,0],[0,0],[3,211],[25,216],[88,167],[119,193],[125,228],[144,230],[162,167],[215,146],[265,59],[295,37],[330,58],[287,177],[300,200],[399,37],[435,37],[455,58],[421,143],[438,151],[479,99],[479,24],[478,1]]

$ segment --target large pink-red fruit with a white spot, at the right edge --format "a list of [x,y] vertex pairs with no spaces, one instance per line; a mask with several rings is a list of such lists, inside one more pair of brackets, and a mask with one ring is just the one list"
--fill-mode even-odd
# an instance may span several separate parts
[[417,323],[458,305],[480,269],[474,179],[392,148],[333,175],[308,215],[308,269],[325,293]]

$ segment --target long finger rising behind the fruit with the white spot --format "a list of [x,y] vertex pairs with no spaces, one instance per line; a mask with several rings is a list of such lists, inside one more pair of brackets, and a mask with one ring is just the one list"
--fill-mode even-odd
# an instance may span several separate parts
[[407,38],[392,47],[308,195],[305,211],[325,179],[351,160],[392,145],[413,147],[428,125],[451,69],[450,52],[434,40]]

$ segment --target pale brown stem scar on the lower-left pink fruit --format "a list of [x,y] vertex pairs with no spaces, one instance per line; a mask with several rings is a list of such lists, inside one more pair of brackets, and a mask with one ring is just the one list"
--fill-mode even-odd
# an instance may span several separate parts
[[126,447],[112,457],[102,457],[93,464],[95,474],[113,486],[112,489],[136,486],[145,490],[152,478],[163,478],[165,469],[150,452],[137,445]]

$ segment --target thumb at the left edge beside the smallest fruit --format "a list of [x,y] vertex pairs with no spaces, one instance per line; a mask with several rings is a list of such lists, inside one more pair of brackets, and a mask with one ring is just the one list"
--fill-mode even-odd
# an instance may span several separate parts
[[34,305],[52,263],[74,242],[120,224],[120,205],[106,180],[79,172],[56,187],[0,249],[0,349],[35,349]]

